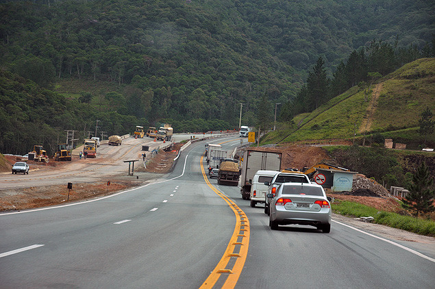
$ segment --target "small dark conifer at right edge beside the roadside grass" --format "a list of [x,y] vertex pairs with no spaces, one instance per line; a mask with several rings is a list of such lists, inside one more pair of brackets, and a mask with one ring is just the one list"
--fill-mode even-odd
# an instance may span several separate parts
[[412,184],[408,188],[410,193],[402,200],[403,208],[412,211],[417,218],[420,213],[434,212],[435,191],[431,189],[433,181],[429,168],[425,162],[422,162],[412,175]]

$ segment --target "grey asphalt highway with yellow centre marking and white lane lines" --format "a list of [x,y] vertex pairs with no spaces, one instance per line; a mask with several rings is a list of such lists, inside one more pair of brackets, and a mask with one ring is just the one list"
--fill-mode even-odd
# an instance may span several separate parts
[[[212,140],[231,151],[238,138]],[[0,214],[1,288],[433,288],[435,255],[335,220],[269,229],[204,175],[203,142],[151,184]],[[388,242],[389,241],[389,242]]]

